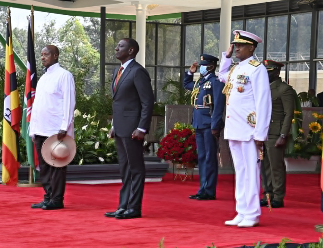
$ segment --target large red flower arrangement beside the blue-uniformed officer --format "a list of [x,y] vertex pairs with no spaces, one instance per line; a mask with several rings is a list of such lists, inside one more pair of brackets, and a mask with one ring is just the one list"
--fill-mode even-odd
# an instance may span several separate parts
[[192,126],[175,123],[174,128],[159,143],[157,156],[175,163],[197,164],[195,130]]

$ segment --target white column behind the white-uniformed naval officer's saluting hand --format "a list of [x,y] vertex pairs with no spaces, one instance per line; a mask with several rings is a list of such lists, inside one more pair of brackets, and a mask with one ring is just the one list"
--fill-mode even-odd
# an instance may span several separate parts
[[230,45],[231,39],[231,9],[232,0],[221,0],[221,16],[220,16],[220,54],[226,51]]

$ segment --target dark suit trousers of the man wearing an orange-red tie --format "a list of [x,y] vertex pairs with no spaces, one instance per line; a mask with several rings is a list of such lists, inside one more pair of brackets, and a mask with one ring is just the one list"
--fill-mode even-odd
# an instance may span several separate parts
[[140,211],[145,179],[143,140],[115,136],[122,180],[119,207]]

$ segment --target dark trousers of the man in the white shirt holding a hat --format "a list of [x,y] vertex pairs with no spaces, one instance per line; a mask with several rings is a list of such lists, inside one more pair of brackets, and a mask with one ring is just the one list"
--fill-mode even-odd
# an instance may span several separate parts
[[40,167],[40,181],[45,191],[44,200],[61,204],[64,200],[67,166],[57,168],[48,165],[42,157],[42,145],[48,137],[35,135]]

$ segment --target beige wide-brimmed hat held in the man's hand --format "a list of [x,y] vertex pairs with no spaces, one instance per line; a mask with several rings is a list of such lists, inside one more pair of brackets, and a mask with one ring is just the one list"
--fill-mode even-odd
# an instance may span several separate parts
[[42,156],[47,164],[54,167],[64,167],[72,162],[76,153],[75,140],[66,135],[62,140],[57,134],[45,140],[42,146]]

